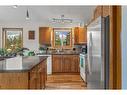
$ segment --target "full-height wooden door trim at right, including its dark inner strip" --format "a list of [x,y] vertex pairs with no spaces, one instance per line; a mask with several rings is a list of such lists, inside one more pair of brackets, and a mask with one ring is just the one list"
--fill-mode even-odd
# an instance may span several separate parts
[[121,6],[113,6],[114,89],[121,89]]

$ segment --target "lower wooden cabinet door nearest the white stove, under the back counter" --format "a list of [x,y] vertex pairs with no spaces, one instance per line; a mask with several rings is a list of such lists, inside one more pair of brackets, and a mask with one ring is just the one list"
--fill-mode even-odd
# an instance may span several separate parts
[[79,68],[79,55],[73,55],[73,60],[71,63],[71,72],[73,73],[78,73],[80,68]]

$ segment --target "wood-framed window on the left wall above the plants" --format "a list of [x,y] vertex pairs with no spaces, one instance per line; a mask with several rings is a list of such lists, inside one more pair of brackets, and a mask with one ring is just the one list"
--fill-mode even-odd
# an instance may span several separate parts
[[3,28],[3,48],[13,51],[22,48],[22,28]]

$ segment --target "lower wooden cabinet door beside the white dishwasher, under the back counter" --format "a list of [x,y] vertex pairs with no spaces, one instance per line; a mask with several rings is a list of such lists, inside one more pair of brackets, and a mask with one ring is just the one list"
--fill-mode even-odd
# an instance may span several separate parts
[[53,73],[62,72],[61,64],[62,64],[62,55],[53,55],[52,56],[52,72]]

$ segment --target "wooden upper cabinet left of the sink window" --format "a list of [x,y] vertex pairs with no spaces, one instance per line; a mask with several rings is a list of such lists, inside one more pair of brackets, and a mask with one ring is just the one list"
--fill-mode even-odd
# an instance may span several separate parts
[[50,27],[40,27],[39,28],[39,43],[42,45],[51,45],[51,32]]

